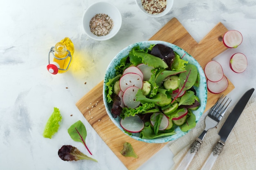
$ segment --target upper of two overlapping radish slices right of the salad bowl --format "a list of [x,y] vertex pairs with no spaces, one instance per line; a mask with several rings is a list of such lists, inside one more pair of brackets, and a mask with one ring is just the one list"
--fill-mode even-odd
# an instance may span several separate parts
[[218,82],[224,76],[222,66],[216,61],[209,61],[204,67],[204,74],[211,82]]

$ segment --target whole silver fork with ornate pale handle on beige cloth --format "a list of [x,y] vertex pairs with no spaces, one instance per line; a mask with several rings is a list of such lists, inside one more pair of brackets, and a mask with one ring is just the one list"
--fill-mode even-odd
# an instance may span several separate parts
[[205,117],[204,131],[198,138],[195,139],[190,147],[190,150],[186,153],[185,157],[182,159],[182,161],[175,170],[186,170],[189,167],[189,164],[191,163],[195,154],[198,152],[207,131],[217,126],[217,124],[225,114],[230,102],[231,100],[229,100],[229,98],[226,99],[226,96],[223,98],[222,95],[220,99],[218,99],[216,104],[211,107],[208,115]]

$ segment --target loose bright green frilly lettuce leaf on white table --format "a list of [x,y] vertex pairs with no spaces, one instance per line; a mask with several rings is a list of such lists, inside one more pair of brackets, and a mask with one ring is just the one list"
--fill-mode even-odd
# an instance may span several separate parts
[[60,122],[62,120],[61,113],[58,108],[54,108],[52,115],[49,117],[45,130],[43,132],[43,137],[52,139],[52,136],[58,132],[58,128],[60,127]]

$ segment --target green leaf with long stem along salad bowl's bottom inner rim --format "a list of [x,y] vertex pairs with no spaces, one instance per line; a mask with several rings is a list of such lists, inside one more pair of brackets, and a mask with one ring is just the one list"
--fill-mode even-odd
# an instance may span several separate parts
[[171,130],[169,132],[159,132],[157,135],[155,134],[154,130],[150,127],[150,125],[145,126],[143,130],[140,132],[140,137],[142,139],[155,139],[157,137],[163,137],[163,136],[170,136],[175,135],[176,132],[174,130]]

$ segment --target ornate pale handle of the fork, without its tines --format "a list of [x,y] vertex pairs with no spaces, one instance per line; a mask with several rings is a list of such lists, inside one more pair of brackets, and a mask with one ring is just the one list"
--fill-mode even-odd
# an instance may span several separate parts
[[195,156],[196,152],[198,152],[200,146],[202,144],[202,140],[197,138],[192,143],[189,151],[186,153],[185,157],[180,161],[180,164],[177,166],[175,170],[187,170],[189,164],[191,163],[193,157]]

